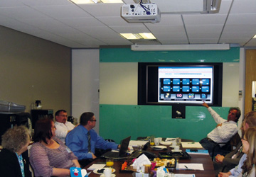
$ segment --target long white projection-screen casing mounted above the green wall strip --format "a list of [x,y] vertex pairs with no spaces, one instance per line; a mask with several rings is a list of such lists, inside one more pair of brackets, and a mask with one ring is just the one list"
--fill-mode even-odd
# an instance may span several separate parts
[[202,44],[202,45],[132,45],[135,51],[169,51],[169,50],[230,50],[228,44]]

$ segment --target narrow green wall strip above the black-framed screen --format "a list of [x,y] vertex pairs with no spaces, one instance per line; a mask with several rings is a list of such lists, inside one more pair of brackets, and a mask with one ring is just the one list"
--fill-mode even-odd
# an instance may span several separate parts
[[239,62],[240,47],[206,51],[132,51],[129,48],[100,49],[100,62]]

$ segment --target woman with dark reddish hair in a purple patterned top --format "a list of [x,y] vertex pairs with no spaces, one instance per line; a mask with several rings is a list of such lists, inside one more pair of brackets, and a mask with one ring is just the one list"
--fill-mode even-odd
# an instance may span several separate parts
[[80,167],[75,154],[54,137],[55,130],[51,119],[36,122],[29,158],[35,176],[70,176],[70,167]]

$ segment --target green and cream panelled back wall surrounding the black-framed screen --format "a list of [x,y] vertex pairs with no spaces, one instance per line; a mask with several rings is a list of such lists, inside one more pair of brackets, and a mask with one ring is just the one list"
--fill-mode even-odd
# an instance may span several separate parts
[[[239,65],[240,48],[232,47],[224,51],[171,51],[134,52],[129,48],[100,49],[100,135],[119,142],[129,135],[132,139],[154,135],[155,137],[181,137],[199,141],[216,126],[208,110],[203,106],[186,106],[186,119],[172,119],[171,106],[135,105],[137,97],[137,64],[131,62],[225,62],[223,84],[230,93],[223,92],[223,105],[238,106],[238,70],[230,63]],[[121,67],[122,71],[118,68]],[[131,72],[129,72],[131,71]],[[111,74],[112,73],[112,74]],[[136,75],[136,76],[135,76]],[[230,78],[232,77],[232,79]],[[234,81],[234,78],[236,80]],[[132,81],[131,81],[132,79]],[[114,90],[114,89],[118,89]],[[238,95],[238,94],[237,94]],[[125,97],[126,96],[126,97]],[[132,98],[132,101],[127,98]],[[127,99],[125,99],[127,98]],[[231,105],[235,104],[235,105]],[[227,118],[229,107],[213,107],[223,118]]]

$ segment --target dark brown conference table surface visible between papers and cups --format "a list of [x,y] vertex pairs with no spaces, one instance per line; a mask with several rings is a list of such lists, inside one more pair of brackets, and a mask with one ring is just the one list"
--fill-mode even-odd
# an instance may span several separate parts
[[[171,152],[171,147],[166,146],[167,150],[153,150],[151,147],[147,149],[149,152],[154,152],[156,156],[158,156],[159,152]],[[181,146],[181,150],[183,152],[186,151]],[[181,174],[195,174],[196,177],[215,177],[214,169],[213,169],[213,161],[211,160],[210,155],[208,154],[190,154],[191,159],[180,159],[179,163],[185,163],[185,164],[203,164],[203,171],[198,171],[198,170],[176,170],[172,171],[172,173],[181,173]],[[116,177],[131,177],[132,172],[120,172],[121,166],[124,163],[125,160],[121,161],[114,161],[114,169],[115,172],[114,174]],[[95,161],[92,161],[92,163],[88,164],[85,166],[85,169],[89,168],[92,166],[92,164],[103,164],[105,163],[105,159],[96,159]],[[87,170],[87,173],[90,172],[90,170]],[[100,175],[97,173],[90,173],[89,177],[99,177]]]

